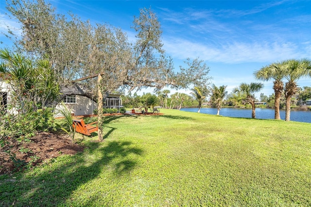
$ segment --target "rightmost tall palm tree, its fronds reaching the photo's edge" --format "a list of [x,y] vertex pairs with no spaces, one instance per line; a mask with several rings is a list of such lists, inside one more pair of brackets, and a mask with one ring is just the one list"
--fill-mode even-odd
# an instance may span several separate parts
[[291,98],[298,91],[297,81],[301,77],[311,76],[311,60],[310,59],[290,59],[283,61],[286,69],[285,78],[288,81],[285,84],[285,121],[290,121],[291,116]]

